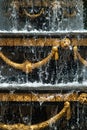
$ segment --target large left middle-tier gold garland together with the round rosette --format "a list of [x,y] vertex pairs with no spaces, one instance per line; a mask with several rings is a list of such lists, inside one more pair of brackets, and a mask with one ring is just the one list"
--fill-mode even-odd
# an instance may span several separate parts
[[44,58],[41,61],[36,62],[36,63],[32,63],[28,60],[26,60],[25,62],[23,62],[21,64],[15,63],[15,62],[11,61],[10,59],[8,59],[2,52],[0,52],[0,58],[4,62],[6,62],[8,65],[14,67],[15,69],[19,69],[19,70],[22,70],[26,73],[30,73],[30,72],[32,72],[33,69],[39,68],[42,65],[45,65],[53,56],[54,56],[55,60],[58,60],[58,58],[59,58],[58,47],[59,46],[61,46],[62,48],[69,47],[70,40],[65,38],[62,41],[60,41],[57,46],[52,47],[51,53],[46,58]]

